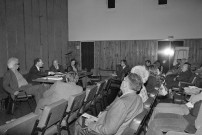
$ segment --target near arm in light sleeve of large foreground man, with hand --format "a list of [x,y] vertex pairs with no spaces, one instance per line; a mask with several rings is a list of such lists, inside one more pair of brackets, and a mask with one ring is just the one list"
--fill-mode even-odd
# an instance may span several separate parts
[[[89,124],[89,129],[100,134],[115,134],[127,116],[126,107],[120,100],[97,122]],[[103,120],[104,119],[104,120]],[[102,123],[99,121],[103,121]]]

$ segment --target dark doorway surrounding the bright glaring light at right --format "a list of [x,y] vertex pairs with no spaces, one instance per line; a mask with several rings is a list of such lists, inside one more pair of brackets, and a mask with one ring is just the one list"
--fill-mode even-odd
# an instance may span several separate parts
[[167,73],[173,67],[173,56],[168,56],[163,53],[166,48],[175,49],[175,47],[183,47],[184,41],[158,41],[158,60],[163,65],[163,73]]

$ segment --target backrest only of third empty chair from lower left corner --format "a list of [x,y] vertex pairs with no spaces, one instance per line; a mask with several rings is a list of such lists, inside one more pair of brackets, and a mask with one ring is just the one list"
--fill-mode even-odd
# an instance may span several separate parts
[[72,122],[74,119],[78,117],[80,109],[83,106],[85,96],[86,96],[86,92],[82,92],[82,93],[70,96],[69,105],[71,107],[70,107],[70,110],[67,110],[67,115],[68,115],[66,119],[67,123]]

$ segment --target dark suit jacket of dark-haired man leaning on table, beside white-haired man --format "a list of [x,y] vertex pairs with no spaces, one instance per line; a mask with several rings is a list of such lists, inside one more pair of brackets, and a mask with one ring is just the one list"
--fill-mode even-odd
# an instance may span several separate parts
[[47,76],[47,72],[42,72],[41,70],[39,71],[35,65],[33,65],[30,70],[29,70],[29,75],[28,75],[28,82],[32,82],[32,80]]

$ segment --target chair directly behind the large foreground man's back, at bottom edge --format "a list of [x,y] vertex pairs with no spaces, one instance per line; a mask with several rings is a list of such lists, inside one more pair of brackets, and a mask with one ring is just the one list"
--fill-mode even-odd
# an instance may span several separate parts
[[145,131],[144,126],[147,119],[148,111],[144,109],[140,114],[138,114],[130,123],[130,125],[124,130],[122,135],[139,135],[140,131]]

